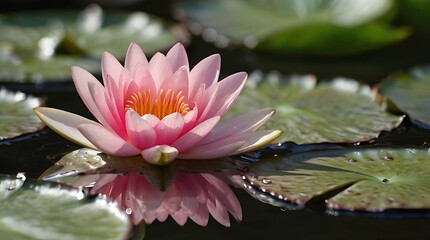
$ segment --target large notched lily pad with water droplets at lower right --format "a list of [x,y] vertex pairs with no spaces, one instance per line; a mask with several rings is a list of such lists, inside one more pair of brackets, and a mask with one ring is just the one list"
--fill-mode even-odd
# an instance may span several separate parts
[[[331,210],[430,209],[430,150],[353,148],[293,153],[251,165],[260,190],[298,205],[318,197]],[[257,176],[257,177],[256,177]]]

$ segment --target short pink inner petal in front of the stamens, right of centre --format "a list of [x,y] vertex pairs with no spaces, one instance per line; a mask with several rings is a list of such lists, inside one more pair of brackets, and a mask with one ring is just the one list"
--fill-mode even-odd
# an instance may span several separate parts
[[173,143],[179,137],[183,127],[184,118],[181,114],[174,112],[165,116],[154,128],[157,134],[157,145]]

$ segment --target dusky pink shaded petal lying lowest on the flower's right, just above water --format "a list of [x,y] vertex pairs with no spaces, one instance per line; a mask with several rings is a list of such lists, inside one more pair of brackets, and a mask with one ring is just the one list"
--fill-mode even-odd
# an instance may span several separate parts
[[180,153],[178,158],[180,159],[213,159],[226,157],[237,149],[239,149],[245,141],[233,142],[233,143],[209,143],[202,146],[197,146],[189,149],[184,153]]

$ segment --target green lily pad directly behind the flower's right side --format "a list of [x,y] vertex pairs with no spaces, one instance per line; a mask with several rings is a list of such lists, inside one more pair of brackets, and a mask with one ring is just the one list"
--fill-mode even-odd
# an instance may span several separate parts
[[284,131],[279,142],[361,142],[397,127],[403,116],[384,111],[370,87],[337,78],[316,84],[311,75],[254,72],[229,114],[266,107],[276,114],[262,128]]

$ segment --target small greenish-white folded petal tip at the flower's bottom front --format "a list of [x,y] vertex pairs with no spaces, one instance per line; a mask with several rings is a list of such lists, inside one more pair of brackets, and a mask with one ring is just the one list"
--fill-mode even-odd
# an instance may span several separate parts
[[167,145],[157,145],[141,152],[142,157],[149,163],[155,165],[166,165],[178,156],[176,148]]

